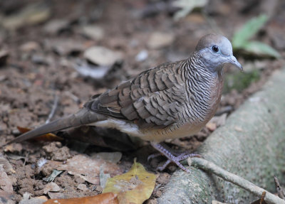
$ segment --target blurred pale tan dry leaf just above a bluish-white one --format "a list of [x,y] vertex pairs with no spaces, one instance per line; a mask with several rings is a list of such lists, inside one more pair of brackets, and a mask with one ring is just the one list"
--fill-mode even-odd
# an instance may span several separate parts
[[123,55],[108,48],[95,46],[84,52],[84,58],[96,65],[110,66],[118,60],[123,60]]

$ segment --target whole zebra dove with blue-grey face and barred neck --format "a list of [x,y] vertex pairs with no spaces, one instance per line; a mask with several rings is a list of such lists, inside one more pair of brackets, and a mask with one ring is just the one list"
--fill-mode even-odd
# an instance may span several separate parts
[[213,117],[227,63],[242,70],[229,40],[209,34],[199,40],[190,58],[146,70],[113,90],[93,96],[75,114],[28,131],[8,144],[84,124],[115,128],[150,141],[168,159],[163,168],[172,161],[187,171],[180,161],[197,155],[177,156],[160,142],[196,134]]

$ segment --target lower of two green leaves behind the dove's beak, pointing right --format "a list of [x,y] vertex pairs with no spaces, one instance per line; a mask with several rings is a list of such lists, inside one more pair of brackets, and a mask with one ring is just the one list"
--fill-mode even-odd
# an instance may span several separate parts
[[274,48],[257,41],[251,41],[244,44],[244,50],[254,55],[266,55],[274,58],[280,58],[280,54],[274,50]]

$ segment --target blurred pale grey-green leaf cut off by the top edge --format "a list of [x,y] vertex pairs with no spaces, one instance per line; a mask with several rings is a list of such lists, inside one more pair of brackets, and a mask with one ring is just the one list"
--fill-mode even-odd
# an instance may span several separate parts
[[179,20],[184,18],[187,14],[190,14],[191,11],[195,8],[202,8],[208,3],[208,0],[178,0],[172,3],[173,6],[181,8],[180,11],[175,13],[174,19]]

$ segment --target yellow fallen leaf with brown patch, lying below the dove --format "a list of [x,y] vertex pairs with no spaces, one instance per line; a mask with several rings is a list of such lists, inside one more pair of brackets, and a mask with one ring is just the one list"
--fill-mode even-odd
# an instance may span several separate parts
[[103,193],[117,193],[120,204],[141,204],[150,198],[154,188],[155,174],[134,161],[130,171],[108,179]]

